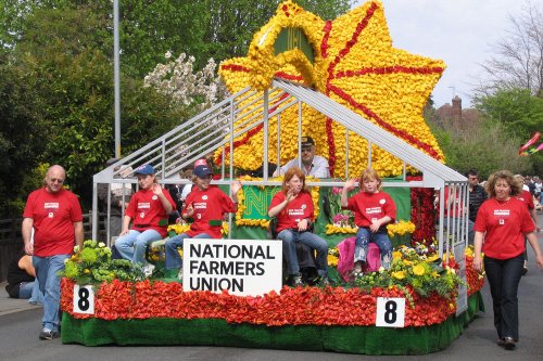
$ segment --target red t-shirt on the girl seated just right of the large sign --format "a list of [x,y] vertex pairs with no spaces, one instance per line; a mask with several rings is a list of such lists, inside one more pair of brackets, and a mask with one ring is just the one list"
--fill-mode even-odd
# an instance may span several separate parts
[[[286,195],[279,191],[272,198],[268,210],[285,202]],[[277,232],[289,228],[298,229],[298,222],[304,218],[313,221],[315,207],[313,206],[313,198],[310,193],[301,192],[295,198],[285,207],[277,216]]]

